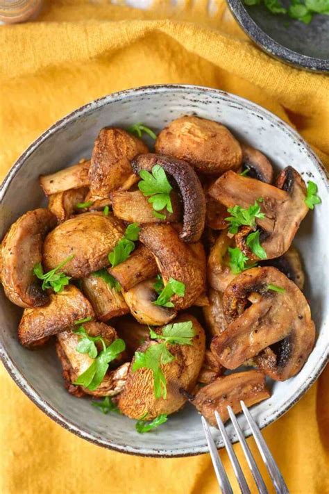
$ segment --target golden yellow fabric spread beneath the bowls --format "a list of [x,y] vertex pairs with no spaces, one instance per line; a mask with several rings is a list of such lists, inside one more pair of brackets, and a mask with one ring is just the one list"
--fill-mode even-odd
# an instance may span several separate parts
[[[56,0],[33,23],[1,26],[0,179],[62,115],[104,94],[155,83],[208,85],[251,99],[294,125],[329,165],[328,79],[269,58],[223,0],[211,1],[210,12],[207,4],[155,1],[151,10],[137,10]],[[329,491],[328,378],[327,369],[264,431],[294,494]],[[3,368],[1,391],[1,494],[218,492],[208,455],[144,459],[104,450],[47,418]],[[227,455],[221,456],[237,493]]]

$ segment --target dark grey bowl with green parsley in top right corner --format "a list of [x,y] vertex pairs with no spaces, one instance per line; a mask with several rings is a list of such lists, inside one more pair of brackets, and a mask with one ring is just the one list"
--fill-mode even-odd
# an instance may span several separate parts
[[301,69],[328,72],[328,0],[228,0],[228,6],[269,55]]

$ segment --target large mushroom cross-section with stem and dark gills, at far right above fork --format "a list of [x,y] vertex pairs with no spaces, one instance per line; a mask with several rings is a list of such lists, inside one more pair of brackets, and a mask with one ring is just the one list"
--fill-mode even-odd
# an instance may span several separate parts
[[226,288],[223,310],[228,327],[212,340],[212,351],[224,367],[236,369],[282,342],[271,347],[271,359],[260,354],[255,361],[280,381],[301,370],[314,346],[314,322],[303,293],[285,274],[271,266],[239,274]]

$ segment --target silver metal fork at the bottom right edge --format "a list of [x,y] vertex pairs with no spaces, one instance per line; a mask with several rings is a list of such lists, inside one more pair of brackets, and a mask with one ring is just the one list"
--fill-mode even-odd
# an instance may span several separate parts
[[[273,456],[269,450],[269,447],[267,446],[267,443],[265,443],[262,434],[260,434],[260,429],[258,428],[258,425],[256,424],[255,420],[253,420],[253,417],[251,416],[251,413],[248,411],[244,402],[240,402],[240,403],[242,406],[242,411],[244,412],[246,420],[253,433],[253,437],[255,438],[255,443],[257,444],[258,450],[260,451],[260,454],[262,456],[262,460],[264,461],[265,466],[269,472],[269,475],[273,481],[274,488],[276,489],[276,493],[289,494],[287,485],[285,484],[285,481],[280,473],[280,470],[278,469],[278,466],[276,465],[276,462],[273,459]],[[264,483],[264,480],[262,479],[262,475],[260,475],[260,470],[258,470],[258,466],[256,465],[255,459],[251,454],[251,450],[249,449],[246,443],[244,434],[240,429],[239,424],[237,423],[237,419],[235,418],[235,414],[233,413],[233,410],[231,409],[230,406],[228,406],[228,413],[230,415],[230,420],[233,423],[233,427],[235,428],[235,432],[237,433],[237,437],[239,438],[239,442],[242,446],[244,455],[246,456],[248,467],[251,469],[251,473],[253,474],[253,478],[255,479],[255,483],[256,486],[258,487],[258,491],[261,494],[268,494],[267,487]],[[226,433],[223,422],[219,417],[219,413],[215,411],[214,415],[216,417],[219,431],[221,431],[221,436],[223,438],[223,443],[228,452],[228,457],[230,458],[230,462],[232,463],[233,470],[235,472],[235,477],[237,477],[240,490],[242,494],[250,494],[251,491],[248,488],[248,484],[246,483],[246,479],[242,472],[242,468],[239,465],[239,461],[237,461],[237,456],[233,451],[232,444],[230,443],[230,439],[228,438],[228,434]],[[214,471],[216,473],[216,477],[219,483],[219,487],[221,488],[221,492],[223,494],[233,494],[232,487],[230,486],[230,481],[228,480],[226,471],[223,468],[223,463],[221,462],[220,456],[217,452],[217,447],[212,438],[209,425],[203,416],[201,416],[201,420],[202,420],[203,429],[205,431],[205,438],[208,443],[212,464],[214,466]]]

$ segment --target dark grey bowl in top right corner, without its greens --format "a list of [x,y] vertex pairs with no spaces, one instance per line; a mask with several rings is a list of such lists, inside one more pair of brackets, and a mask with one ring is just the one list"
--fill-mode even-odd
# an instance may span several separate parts
[[[329,70],[329,16],[314,15],[303,24],[287,15],[273,15],[260,4],[245,6],[243,0],[227,0],[245,33],[269,55],[300,69]],[[289,6],[288,0],[282,5]]]

